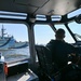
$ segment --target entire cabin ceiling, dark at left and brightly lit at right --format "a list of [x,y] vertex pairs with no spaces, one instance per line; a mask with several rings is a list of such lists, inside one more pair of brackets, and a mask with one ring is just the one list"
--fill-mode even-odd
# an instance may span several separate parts
[[0,11],[65,15],[81,8],[81,0],[0,0]]

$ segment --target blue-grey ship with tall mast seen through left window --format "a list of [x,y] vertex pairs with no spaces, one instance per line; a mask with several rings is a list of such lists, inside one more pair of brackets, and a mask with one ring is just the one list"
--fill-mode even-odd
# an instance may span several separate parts
[[8,33],[4,32],[4,30],[5,29],[2,25],[1,36],[0,36],[0,50],[19,49],[28,45],[27,42],[17,42],[13,36],[9,36]]

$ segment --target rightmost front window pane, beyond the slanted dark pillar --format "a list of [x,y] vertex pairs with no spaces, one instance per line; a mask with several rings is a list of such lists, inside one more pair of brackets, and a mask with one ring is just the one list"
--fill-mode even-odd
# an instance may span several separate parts
[[73,32],[77,41],[81,41],[81,24],[77,24],[76,22],[71,22],[68,24],[69,28]]

